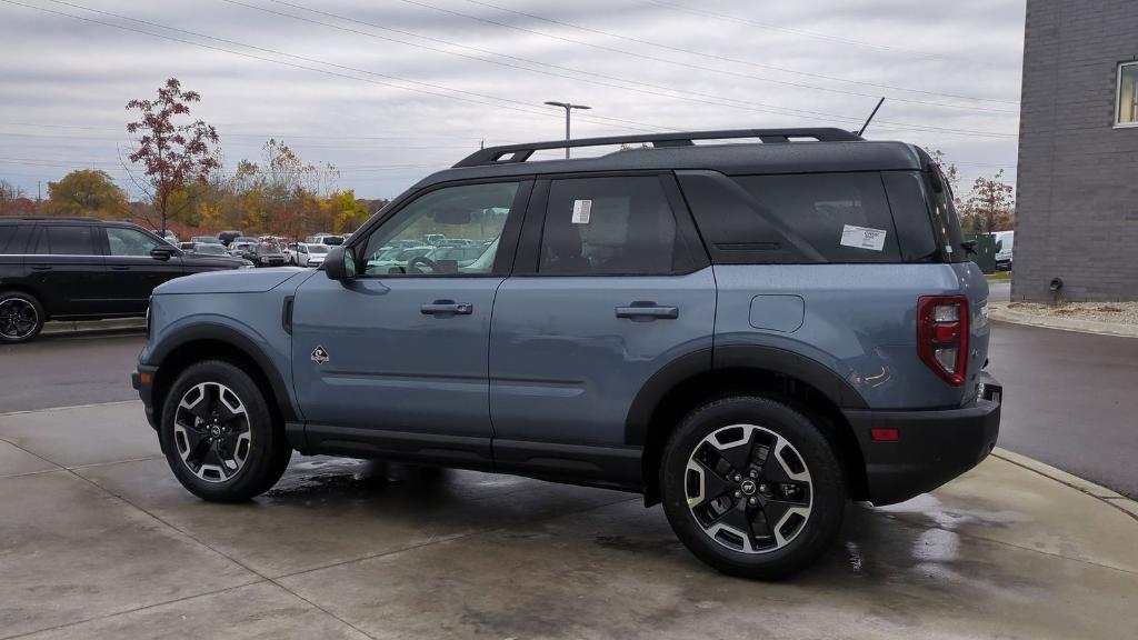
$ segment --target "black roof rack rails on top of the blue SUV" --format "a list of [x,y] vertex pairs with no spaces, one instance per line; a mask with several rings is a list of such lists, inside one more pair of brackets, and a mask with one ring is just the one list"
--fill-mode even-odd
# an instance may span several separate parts
[[604,147],[611,145],[651,143],[653,147],[691,147],[695,140],[726,140],[731,138],[758,138],[765,143],[791,142],[808,138],[818,142],[849,142],[863,140],[857,133],[836,128],[808,129],[728,129],[723,131],[677,131],[675,133],[649,133],[641,136],[612,136],[608,138],[579,138],[577,140],[551,140],[487,147],[462,158],[455,167],[483,166],[487,164],[526,162],[538,149],[568,149],[574,147]]

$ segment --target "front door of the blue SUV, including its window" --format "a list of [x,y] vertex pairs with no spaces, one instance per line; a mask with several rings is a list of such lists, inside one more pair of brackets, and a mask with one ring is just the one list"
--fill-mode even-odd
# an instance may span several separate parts
[[[490,312],[528,194],[496,182],[419,195],[353,236],[356,278],[316,273],[298,288],[292,375],[310,448],[492,463]],[[448,239],[481,253],[444,257]],[[423,251],[393,251],[407,245]]]

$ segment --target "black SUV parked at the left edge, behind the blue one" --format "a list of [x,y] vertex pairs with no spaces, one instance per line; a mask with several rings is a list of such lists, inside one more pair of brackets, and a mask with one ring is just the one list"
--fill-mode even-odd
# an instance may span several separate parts
[[143,315],[171,278],[246,265],[185,254],[126,222],[0,218],[0,342],[30,340],[47,320]]

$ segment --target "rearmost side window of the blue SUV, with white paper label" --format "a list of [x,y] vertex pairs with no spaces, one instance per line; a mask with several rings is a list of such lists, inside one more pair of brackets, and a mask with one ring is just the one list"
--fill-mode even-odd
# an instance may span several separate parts
[[877,173],[683,175],[719,264],[900,262]]

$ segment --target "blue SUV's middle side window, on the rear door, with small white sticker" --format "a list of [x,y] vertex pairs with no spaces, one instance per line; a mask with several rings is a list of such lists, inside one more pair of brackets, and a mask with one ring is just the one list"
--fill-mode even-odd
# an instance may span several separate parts
[[582,178],[550,184],[538,273],[652,276],[690,264],[658,178]]

